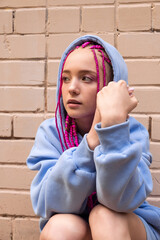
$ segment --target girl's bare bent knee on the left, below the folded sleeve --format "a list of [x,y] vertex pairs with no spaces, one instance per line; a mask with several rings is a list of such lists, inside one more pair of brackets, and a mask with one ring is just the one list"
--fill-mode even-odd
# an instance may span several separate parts
[[41,232],[40,240],[92,240],[88,223],[74,214],[56,214]]

